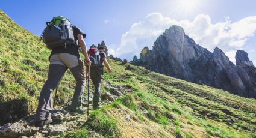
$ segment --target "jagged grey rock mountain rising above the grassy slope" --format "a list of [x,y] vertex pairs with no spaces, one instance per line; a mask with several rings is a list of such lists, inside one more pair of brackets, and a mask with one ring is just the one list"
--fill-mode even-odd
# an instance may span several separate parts
[[222,50],[211,53],[173,25],[161,34],[153,49],[144,47],[134,65],[144,65],[158,73],[194,83],[224,89],[233,94],[256,98],[256,68],[242,50],[236,53],[236,64]]

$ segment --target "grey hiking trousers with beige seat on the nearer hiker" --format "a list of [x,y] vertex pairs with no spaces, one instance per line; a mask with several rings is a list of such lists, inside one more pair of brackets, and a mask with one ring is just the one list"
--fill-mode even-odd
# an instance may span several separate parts
[[78,59],[77,56],[69,53],[54,54],[50,58],[48,79],[46,80],[45,85],[43,85],[40,93],[35,121],[51,118],[49,110],[53,108],[52,92],[57,88],[57,85],[67,68],[70,69],[76,80],[75,92],[73,94],[70,109],[76,109],[76,107],[80,107],[82,105],[81,96],[84,92],[84,86],[86,85],[83,62],[81,59]]

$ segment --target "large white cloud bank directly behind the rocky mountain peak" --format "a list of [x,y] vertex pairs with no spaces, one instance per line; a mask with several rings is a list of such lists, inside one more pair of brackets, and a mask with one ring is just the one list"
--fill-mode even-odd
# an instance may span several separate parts
[[246,41],[253,37],[256,31],[256,16],[245,17],[237,22],[231,22],[226,17],[223,22],[212,23],[211,17],[199,14],[194,20],[175,20],[163,17],[160,13],[151,13],[145,19],[134,23],[121,38],[120,47],[115,55],[119,58],[132,59],[139,56],[140,50],[148,46],[152,49],[155,39],[172,25],[180,25],[186,35],[197,44],[211,52],[218,46],[234,59],[234,52],[243,49]]

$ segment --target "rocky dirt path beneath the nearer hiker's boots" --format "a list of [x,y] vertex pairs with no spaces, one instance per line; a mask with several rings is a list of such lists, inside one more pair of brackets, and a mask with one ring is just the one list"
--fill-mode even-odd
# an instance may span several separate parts
[[64,107],[52,110],[51,125],[46,125],[43,130],[33,127],[33,116],[20,119],[15,123],[8,123],[0,127],[0,137],[60,137],[67,131],[75,130],[86,122],[87,113],[78,114],[67,112]]

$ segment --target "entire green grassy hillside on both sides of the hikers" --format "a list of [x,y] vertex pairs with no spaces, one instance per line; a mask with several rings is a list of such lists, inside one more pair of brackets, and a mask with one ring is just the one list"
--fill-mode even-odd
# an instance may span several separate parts
[[[0,32],[0,117],[5,118],[1,123],[25,115],[29,120],[46,80],[49,50],[38,45],[38,36],[16,25],[3,11]],[[255,99],[144,67],[111,59],[109,62],[114,72],[104,70],[105,106],[90,112],[89,118],[86,114],[70,115],[54,122],[50,126],[70,127],[69,122],[77,120],[61,137],[256,137]],[[57,109],[62,110],[70,100],[74,82],[68,71],[58,91]],[[44,136],[50,134],[54,135]]]

